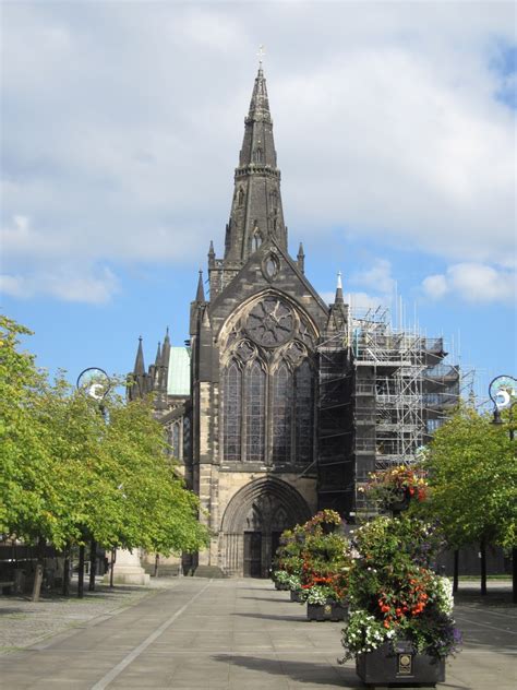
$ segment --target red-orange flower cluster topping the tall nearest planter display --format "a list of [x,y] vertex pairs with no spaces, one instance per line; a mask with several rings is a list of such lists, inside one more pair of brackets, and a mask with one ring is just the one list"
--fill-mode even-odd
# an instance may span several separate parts
[[359,490],[384,508],[414,498],[423,501],[428,495],[426,473],[420,467],[398,465],[369,475],[369,483]]

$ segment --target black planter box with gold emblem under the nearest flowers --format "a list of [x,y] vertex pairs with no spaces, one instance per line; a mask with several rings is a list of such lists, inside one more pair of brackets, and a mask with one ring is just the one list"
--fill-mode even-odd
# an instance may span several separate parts
[[369,685],[435,685],[445,680],[445,661],[414,654],[410,642],[399,640],[395,645],[385,642],[373,652],[358,654],[356,671]]

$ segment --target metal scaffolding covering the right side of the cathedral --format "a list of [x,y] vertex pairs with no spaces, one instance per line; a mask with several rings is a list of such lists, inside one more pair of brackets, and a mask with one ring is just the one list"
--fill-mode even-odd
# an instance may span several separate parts
[[380,309],[349,313],[318,357],[322,507],[352,511],[370,472],[416,462],[458,402],[459,367],[443,364],[443,338],[396,330]]

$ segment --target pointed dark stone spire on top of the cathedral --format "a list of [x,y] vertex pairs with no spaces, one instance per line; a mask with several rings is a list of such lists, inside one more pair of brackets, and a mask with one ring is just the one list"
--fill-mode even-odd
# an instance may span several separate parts
[[268,237],[287,250],[280,171],[277,168],[273,120],[261,60],[250,110],[244,119],[239,167],[236,168],[233,200],[226,234],[226,266],[242,266]]

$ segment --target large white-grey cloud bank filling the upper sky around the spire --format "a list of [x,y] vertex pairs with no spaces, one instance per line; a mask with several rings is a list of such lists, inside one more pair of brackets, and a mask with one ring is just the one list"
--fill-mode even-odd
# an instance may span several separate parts
[[[9,3],[4,272],[26,294],[35,275],[55,296],[81,294],[58,288],[70,275],[112,294],[106,264],[197,263],[211,238],[220,252],[260,40],[291,237],[346,227],[365,243],[506,265],[515,134],[496,99],[510,78],[491,56],[512,26],[504,3],[265,3],[260,14]],[[393,288],[378,263],[363,281],[380,296]]]

